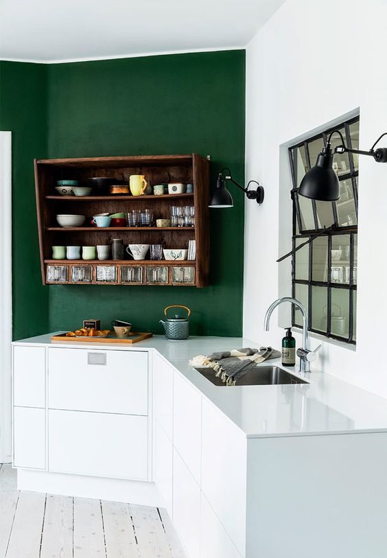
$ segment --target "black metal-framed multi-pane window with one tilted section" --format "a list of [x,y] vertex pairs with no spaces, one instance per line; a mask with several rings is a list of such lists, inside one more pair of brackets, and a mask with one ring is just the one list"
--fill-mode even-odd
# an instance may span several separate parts
[[[355,117],[310,137],[289,149],[293,188],[316,163],[318,153],[332,130],[340,130],[349,148],[359,149],[359,122]],[[332,137],[332,149],[340,145]],[[309,316],[309,331],[330,338],[356,342],[357,295],[357,154],[338,153],[333,168],[340,181],[337,202],[293,196],[292,248],[309,240],[324,227],[335,228],[296,251],[292,256],[292,296],[301,301]],[[302,316],[293,307],[292,325],[301,327]]]

